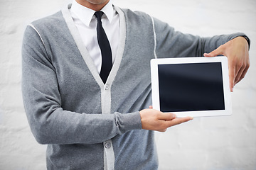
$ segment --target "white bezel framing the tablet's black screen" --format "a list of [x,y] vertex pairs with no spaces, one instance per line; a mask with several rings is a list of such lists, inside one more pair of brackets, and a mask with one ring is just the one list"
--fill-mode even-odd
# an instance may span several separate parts
[[221,62],[222,74],[223,74],[223,92],[224,92],[224,103],[225,110],[215,111],[180,111],[174,112],[178,118],[186,116],[191,117],[203,117],[203,116],[220,116],[220,115],[231,115],[232,105],[231,96],[229,89],[228,79],[228,59],[227,57],[176,57],[176,58],[162,58],[151,60],[151,89],[152,89],[152,105],[153,108],[160,111],[159,101],[159,64],[185,64],[185,63],[207,63],[207,62]]

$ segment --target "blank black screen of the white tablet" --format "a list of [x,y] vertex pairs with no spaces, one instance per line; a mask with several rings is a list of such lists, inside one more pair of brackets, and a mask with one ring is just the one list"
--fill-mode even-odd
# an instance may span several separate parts
[[160,111],[224,110],[221,62],[160,64]]

